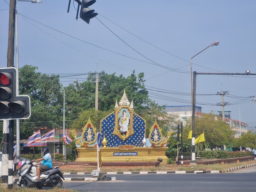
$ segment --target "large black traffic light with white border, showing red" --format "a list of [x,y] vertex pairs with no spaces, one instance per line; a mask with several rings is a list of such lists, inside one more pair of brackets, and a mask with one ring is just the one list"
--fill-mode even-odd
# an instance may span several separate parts
[[30,117],[30,97],[16,96],[16,79],[16,68],[0,68],[0,120]]

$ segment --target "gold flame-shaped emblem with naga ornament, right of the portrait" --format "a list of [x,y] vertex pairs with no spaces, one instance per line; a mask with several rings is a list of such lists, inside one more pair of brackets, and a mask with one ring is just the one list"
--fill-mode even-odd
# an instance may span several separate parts
[[167,137],[163,137],[162,129],[157,124],[156,120],[149,131],[149,141],[153,148],[162,148],[168,142],[174,131],[168,131]]

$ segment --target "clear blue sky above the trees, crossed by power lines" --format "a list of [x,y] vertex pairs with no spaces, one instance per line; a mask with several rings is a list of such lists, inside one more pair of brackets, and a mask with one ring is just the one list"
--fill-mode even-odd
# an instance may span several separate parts
[[[8,4],[0,1],[0,67],[7,66]],[[64,86],[87,80],[88,72],[143,72],[149,96],[168,106],[191,105],[190,59],[215,41],[192,59],[192,71],[256,74],[254,0],[97,0],[90,8],[99,15],[89,25],[76,20],[77,5],[71,0],[67,13],[68,0],[17,2],[19,67],[60,74]],[[216,92],[228,91],[225,111],[255,130],[255,81],[254,75],[198,75],[196,105],[203,113],[222,111]]]

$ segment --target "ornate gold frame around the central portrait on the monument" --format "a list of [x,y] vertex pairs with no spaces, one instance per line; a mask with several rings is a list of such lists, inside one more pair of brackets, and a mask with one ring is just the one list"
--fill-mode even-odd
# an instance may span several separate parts
[[[122,109],[127,109],[130,113],[130,125],[128,126],[128,130],[127,130],[127,134],[126,135],[121,135],[120,131],[119,131],[119,117],[118,117],[118,113],[122,110]],[[133,130],[133,114],[134,114],[134,109],[130,109],[129,106],[119,106],[118,108],[115,109],[115,129],[113,134],[117,135],[120,139],[122,139],[123,141],[126,140],[128,137],[130,137],[131,135],[134,134],[134,130]]]

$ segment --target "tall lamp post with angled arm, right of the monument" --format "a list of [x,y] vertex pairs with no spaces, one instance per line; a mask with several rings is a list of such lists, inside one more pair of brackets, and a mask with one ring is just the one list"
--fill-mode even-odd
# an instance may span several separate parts
[[[193,81],[192,81],[192,59],[206,50],[207,48],[215,45],[217,46],[219,44],[218,41],[215,41],[214,43],[210,44],[208,47],[200,51],[199,53],[195,54],[191,59],[190,59],[190,69],[191,69],[191,108],[192,108],[192,163],[195,163],[195,101],[193,101]],[[195,90],[194,90],[195,91]],[[194,103],[194,104],[193,104]]]

